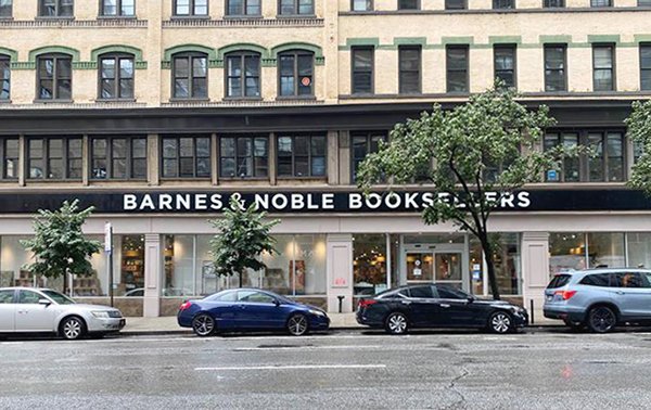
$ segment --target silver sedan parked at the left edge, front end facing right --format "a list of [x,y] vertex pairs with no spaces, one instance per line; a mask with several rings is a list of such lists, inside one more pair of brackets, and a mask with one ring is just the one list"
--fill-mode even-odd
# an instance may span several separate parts
[[77,304],[49,289],[0,289],[0,334],[54,333],[76,339],[116,333],[125,323],[115,308]]

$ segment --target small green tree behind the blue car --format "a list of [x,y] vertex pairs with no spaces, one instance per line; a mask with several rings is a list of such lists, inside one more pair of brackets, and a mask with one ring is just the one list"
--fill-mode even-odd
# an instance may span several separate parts
[[224,212],[224,218],[208,222],[219,233],[210,239],[210,254],[215,273],[230,277],[238,273],[240,287],[245,269],[260,270],[266,265],[260,260],[264,252],[275,254],[276,240],[269,233],[280,221],[265,221],[267,214],[256,210],[255,204],[244,208],[233,195],[230,207]]

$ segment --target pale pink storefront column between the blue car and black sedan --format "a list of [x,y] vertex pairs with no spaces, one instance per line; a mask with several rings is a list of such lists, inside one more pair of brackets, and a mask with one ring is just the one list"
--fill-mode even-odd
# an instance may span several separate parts
[[339,296],[342,300],[342,312],[353,311],[353,235],[328,235],[328,311],[339,312]]

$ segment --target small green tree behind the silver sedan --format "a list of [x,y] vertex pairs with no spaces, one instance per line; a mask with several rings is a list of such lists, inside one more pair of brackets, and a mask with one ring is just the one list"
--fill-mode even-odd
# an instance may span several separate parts
[[79,210],[77,200],[65,201],[58,210],[39,209],[34,219],[34,238],[21,241],[25,249],[34,253],[35,260],[26,266],[27,270],[46,278],[90,274],[89,258],[102,247],[100,242],[84,238],[81,231],[92,210]]

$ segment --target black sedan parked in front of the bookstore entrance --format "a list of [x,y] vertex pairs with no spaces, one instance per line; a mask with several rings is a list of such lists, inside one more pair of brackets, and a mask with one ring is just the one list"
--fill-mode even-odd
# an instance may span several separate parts
[[361,298],[357,322],[404,334],[411,328],[474,328],[508,333],[526,326],[525,309],[502,300],[484,300],[441,284],[403,286]]

